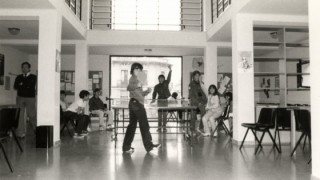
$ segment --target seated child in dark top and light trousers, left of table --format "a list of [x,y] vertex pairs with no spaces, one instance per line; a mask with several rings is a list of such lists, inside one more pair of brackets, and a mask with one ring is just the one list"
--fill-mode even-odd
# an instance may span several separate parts
[[93,91],[93,97],[89,100],[89,111],[92,114],[97,114],[99,116],[99,130],[103,131],[105,129],[104,125],[104,114],[108,115],[107,120],[107,130],[112,129],[113,125],[113,112],[109,111],[103,104],[102,100],[99,98],[101,96],[101,90],[95,89]]

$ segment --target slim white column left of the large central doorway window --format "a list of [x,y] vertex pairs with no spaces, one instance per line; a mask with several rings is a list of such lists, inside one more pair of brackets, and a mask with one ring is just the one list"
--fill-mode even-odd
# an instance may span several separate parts
[[88,45],[86,41],[76,44],[76,68],[75,68],[75,100],[79,99],[81,90],[88,90]]

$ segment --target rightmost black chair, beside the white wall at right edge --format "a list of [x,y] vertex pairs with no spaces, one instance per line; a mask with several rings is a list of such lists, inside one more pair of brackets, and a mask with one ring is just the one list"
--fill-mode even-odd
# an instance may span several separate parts
[[294,115],[296,119],[296,131],[301,132],[301,136],[296,143],[296,146],[291,152],[291,156],[296,151],[298,145],[300,144],[302,138],[307,136],[309,138],[309,145],[311,146],[311,118],[310,112],[308,110],[294,110]]

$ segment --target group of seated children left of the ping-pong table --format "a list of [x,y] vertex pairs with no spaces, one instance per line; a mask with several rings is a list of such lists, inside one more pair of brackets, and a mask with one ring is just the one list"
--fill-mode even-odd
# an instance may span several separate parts
[[[107,105],[103,104],[99,98],[101,95],[100,89],[94,90],[94,95],[89,99],[89,91],[82,90],[79,93],[80,99],[73,102],[70,106],[66,102],[66,92],[60,91],[60,106],[63,111],[63,116],[68,119],[76,121],[74,137],[82,138],[88,135],[89,125],[91,124],[90,115],[86,112],[86,102],[89,101],[89,112],[92,115],[99,116],[99,130],[111,130],[113,129],[113,112],[107,109]],[[104,123],[104,117],[107,116],[107,125]]]

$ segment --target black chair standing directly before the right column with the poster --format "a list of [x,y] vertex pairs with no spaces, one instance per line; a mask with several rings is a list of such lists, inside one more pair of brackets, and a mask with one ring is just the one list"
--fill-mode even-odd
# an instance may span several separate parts
[[[263,140],[263,137],[265,135],[265,133],[267,132],[273,142],[273,145],[277,148],[278,152],[280,152],[275,140],[273,139],[269,129],[273,129],[275,127],[275,115],[273,113],[273,109],[272,108],[262,108],[260,111],[260,115],[259,115],[259,119],[257,123],[242,123],[241,126],[246,127],[247,128],[247,132],[244,135],[243,141],[241,143],[241,146],[239,148],[239,150],[241,150],[243,143],[247,137],[248,131],[251,130],[256,141],[258,141],[258,147],[256,148],[255,154],[257,154],[259,148],[262,148],[261,142]],[[262,135],[260,140],[257,137],[256,132],[257,131],[262,131]]]

